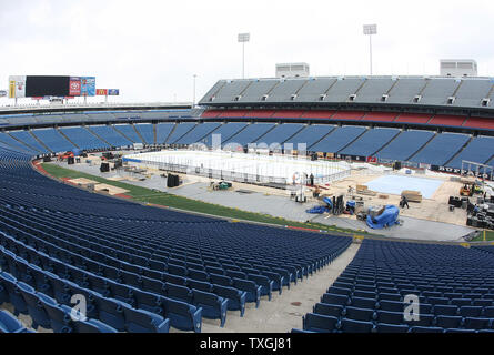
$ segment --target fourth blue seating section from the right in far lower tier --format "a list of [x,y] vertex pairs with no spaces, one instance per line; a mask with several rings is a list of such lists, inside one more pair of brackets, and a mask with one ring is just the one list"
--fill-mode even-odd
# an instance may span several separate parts
[[351,145],[339,153],[342,155],[373,156],[379,150],[393,140],[400,130],[396,129],[373,129],[365,132]]

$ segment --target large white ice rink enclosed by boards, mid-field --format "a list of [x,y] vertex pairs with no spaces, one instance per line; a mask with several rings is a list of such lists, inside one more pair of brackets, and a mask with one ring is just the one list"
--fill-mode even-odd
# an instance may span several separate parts
[[123,159],[131,165],[151,166],[189,174],[222,176],[291,184],[311,174],[322,184],[350,175],[346,162],[311,161],[289,155],[244,154],[222,151],[161,151],[131,154]]

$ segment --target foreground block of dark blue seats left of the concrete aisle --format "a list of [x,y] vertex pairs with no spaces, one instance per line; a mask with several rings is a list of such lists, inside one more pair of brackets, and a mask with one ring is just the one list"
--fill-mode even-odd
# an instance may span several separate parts
[[[203,317],[228,326],[226,308],[243,316],[245,303],[281,294],[352,242],[88,193],[10,150],[0,150],[0,304],[56,333],[199,333]],[[69,316],[74,294],[88,324]]]

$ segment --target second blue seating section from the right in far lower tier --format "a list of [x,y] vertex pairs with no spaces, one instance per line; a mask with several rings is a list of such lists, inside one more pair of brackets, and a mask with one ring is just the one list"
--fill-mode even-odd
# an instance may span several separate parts
[[444,166],[468,142],[466,134],[443,133],[434,138],[410,161]]

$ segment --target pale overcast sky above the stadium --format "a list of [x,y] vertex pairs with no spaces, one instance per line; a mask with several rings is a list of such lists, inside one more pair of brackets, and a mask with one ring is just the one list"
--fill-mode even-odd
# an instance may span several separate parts
[[[95,75],[118,101],[199,100],[245,71],[308,62],[312,75],[438,74],[440,59],[475,59],[494,77],[492,0],[0,0],[0,90],[10,74]],[[0,99],[6,102],[7,99]]]

